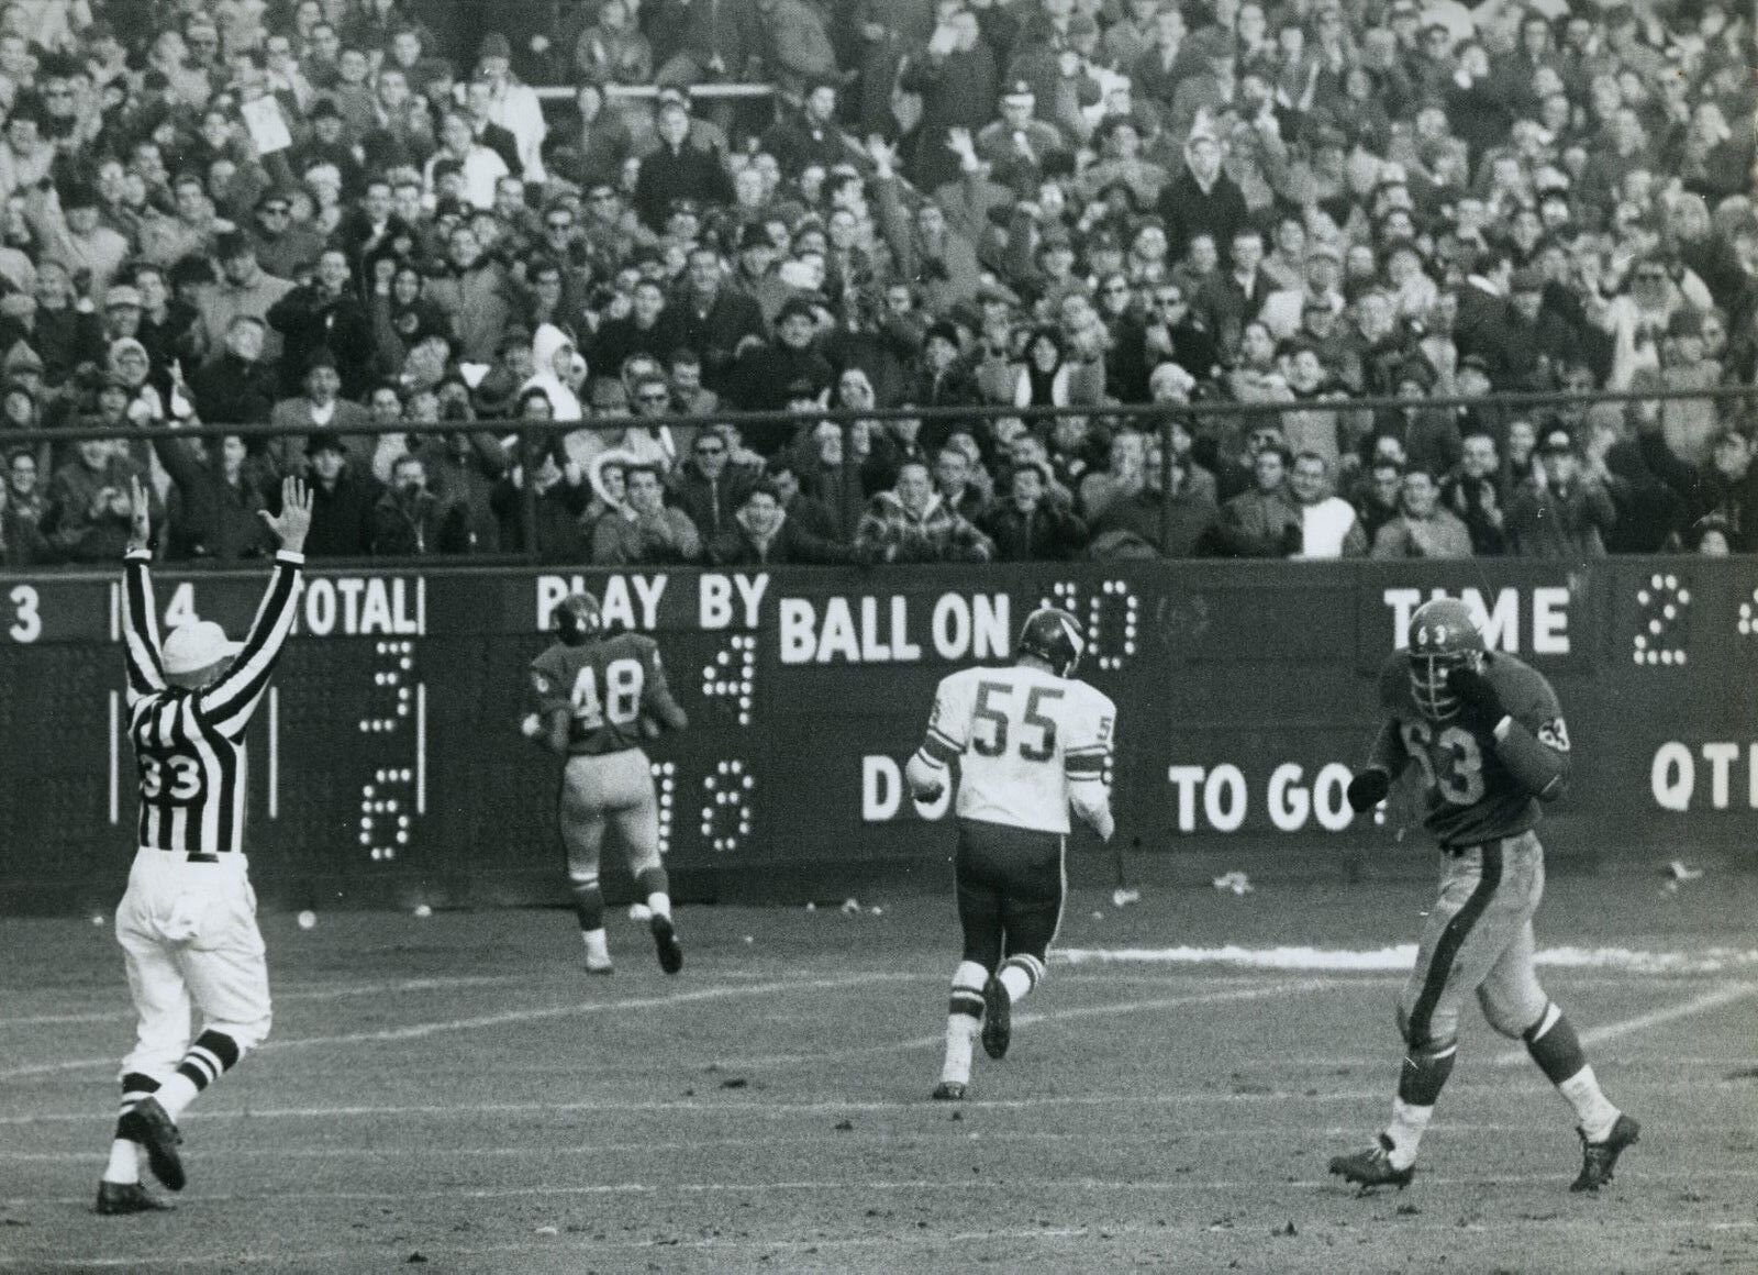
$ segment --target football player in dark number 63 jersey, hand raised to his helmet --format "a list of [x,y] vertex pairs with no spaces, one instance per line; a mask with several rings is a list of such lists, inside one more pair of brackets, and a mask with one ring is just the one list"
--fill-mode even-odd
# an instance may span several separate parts
[[1556,691],[1514,656],[1493,654],[1471,610],[1452,598],[1419,607],[1406,649],[1380,672],[1385,725],[1348,784],[1366,812],[1412,761],[1440,841],[1440,899],[1417,965],[1398,997],[1405,1062],[1392,1122],[1375,1145],[1331,1161],[1362,1191],[1410,1184],[1417,1143],[1457,1055],[1459,1011],[1475,992],[1489,1025],[1526,1043],[1533,1062],[1580,1120],[1582,1164],[1572,1191],[1612,1180],[1638,1126],[1607,1101],[1580,1039],[1533,973],[1533,913],[1544,897],[1540,804],[1568,781],[1568,726]]

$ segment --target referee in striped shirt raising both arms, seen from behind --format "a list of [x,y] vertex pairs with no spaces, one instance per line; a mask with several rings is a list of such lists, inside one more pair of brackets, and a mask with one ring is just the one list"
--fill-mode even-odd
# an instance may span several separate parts
[[[269,686],[299,596],[311,492],[281,484],[269,591],[243,644],[211,621],[158,635],[151,521],[135,480],[123,559],[128,737],[141,765],[139,851],[116,909],[137,1018],[121,1066],[121,1117],[98,1184],[100,1213],[165,1208],[141,1187],[183,1189],[178,1117],[269,1034],[269,969],[244,862],[244,726]],[[190,1039],[190,1011],[200,1034]]]

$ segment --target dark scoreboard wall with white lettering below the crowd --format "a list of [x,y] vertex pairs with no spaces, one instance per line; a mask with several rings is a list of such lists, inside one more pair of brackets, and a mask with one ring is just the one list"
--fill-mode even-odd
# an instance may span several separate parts
[[[216,619],[239,637],[264,580],[165,570],[156,605],[167,624]],[[941,881],[951,820],[918,814],[904,761],[935,682],[1007,659],[1044,601],[1088,626],[1083,675],[1118,703],[1118,835],[1141,862],[1419,853],[1405,795],[1352,816],[1343,786],[1378,721],[1375,672],[1436,591],[1480,607],[1493,644],[1561,695],[1575,769],[1547,821],[1552,853],[1739,853],[1758,811],[1758,561],[316,570],[250,726],[265,902],[566,899],[559,761],[517,723],[526,665],[575,587],[659,638],[691,716],[650,749],[689,899],[795,900],[872,872]],[[125,881],[135,769],[118,601],[118,577],[0,577],[0,909],[104,909]],[[1092,851],[1090,835],[1072,849]]]

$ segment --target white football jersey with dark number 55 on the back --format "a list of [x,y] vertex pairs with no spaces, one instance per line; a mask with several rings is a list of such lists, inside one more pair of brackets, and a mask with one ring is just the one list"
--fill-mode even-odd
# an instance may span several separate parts
[[928,747],[956,756],[958,818],[1069,832],[1069,783],[1097,779],[1116,705],[1042,668],[965,668],[941,681]]

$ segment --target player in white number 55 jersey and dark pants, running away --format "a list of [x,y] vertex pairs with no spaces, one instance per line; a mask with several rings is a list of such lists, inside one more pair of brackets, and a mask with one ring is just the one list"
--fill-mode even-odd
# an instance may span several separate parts
[[918,802],[939,798],[958,760],[958,923],[946,1064],[933,1090],[958,1101],[972,1043],[1007,1053],[1013,1006],[1044,978],[1062,925],[1069,807],[1111,839],[1104,786],[1116,705],[1074,677],[1081,626],[1065,610],[1027,616],[1011,668],[965,668],[941,681],[933,716],[905,776]]

